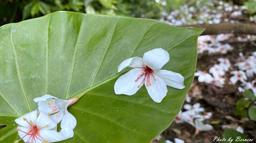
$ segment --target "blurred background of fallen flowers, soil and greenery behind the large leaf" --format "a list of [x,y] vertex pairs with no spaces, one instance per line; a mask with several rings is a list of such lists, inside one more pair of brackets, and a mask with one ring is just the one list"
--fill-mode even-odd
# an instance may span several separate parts
[[63,10],[205,27],[181,112],[153,142],[207,143],[216,136],[256,142],[256,1],[0,0],[0,26]]

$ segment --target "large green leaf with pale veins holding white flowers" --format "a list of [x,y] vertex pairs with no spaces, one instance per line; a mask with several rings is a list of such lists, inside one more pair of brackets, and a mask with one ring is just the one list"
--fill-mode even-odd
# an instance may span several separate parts
[[[73,138],[63,142],[150,142],[180,111],[194,79],[197,38],[202,29],[157,20],[57,12],[0,28],[0,142],[17,139],[14,122],[35,110],[35,97],[81,97],[69,111]],[[145,87],[134,96],[115,95],[123,74],[118,65],[161,47],[170,54],[163,67],[181,73],[183,90],[168,88],[161,103]],[[129,69],[126,69],[126,71]]]

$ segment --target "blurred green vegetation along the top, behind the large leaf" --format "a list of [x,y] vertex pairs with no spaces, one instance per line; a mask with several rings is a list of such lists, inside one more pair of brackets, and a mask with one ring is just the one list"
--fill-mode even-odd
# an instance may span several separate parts
[[[252,0],[226,2],[245,5],[247,9],[243,13],[247,16],[253,16],[256,12],[256,2]],[[186,11],[180,10],[184,4],[189,8],[194,8],[198,15],[191,17]],[[195,23],[202,14],[202,8],[216,10],[218,5],[217,0],[1,0],[0,25],[63,10],[153,19],[161,19],[174,10],[180,10],[179,17],[186,17],[189,22]]]

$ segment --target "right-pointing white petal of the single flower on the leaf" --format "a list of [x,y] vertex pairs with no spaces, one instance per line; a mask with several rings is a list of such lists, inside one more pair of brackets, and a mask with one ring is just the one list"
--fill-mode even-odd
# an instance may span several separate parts
[[167,71],[167,70],[154,71],[154,73],[158,77],[160,77],[164,81],[164,83],[169,87],[180,89],[180,90],[185,88],[183,84],[184,77],[179,73]]

